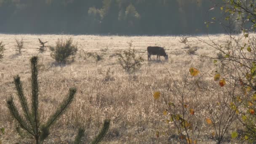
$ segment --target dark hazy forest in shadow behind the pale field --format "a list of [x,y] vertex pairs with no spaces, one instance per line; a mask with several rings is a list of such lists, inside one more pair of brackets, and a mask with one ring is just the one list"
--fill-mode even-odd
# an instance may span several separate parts
[[0,32],[182,35],[223,33],[221,0],[0,0]]

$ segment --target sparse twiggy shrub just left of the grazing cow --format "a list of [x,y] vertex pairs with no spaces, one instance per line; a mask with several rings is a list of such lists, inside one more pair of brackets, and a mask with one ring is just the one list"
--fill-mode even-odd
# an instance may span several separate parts
[[128,42],[128,50],[117,52],[118,62],[125,72],[135,72],[142,66],[144,59],[141,56],[136,56],[135,49],[132,48],[132,41]]

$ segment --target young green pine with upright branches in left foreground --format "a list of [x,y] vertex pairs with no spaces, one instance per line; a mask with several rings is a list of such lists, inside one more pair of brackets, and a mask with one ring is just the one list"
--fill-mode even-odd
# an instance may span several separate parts
[[42,123],[40,120],[40,111],[38,109],[39,101],[39,87],[38,87],[38,57],[34,56],[30,59],[31,62],[31,109],[29,109],[29,104],[27,98],[24,96],[22,84],[19,75],[14,77],[14,83],[19,97],[19,101],[24,112],[24,116],[19,113],[16,107],[13,97],[8,99],[7,106],[11,112],[11,115],[18,123],[17,131],[20,136],[25,138],[35,139],[35,143],[39,144],[43,142],[47,136],[50,134],[49,129],[51,125],[58,120],[58,118],[63,114],[63,112],[69,107],[72,100],[74,99],[76,88],[70,88],[68,96],[61,102],[58,109],[49,117],[46,123]]

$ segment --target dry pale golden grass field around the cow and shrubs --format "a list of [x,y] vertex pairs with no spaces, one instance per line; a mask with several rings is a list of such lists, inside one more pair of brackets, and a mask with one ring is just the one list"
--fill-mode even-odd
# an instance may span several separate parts
[[[75,61],[59,66],[51,58],[50,51],[39,54],[38,38],[48,41],[46,45],[54,46],[58,38],[72,37],[78,44],[79,51]],[[214,41],[225,39],[225,35],[210,35]],[[24,52],[20,55],[15,51],[15,38],[24,39]],[[209,41],[207,36],[200,36]],[[127,42],[133,41],[136,54],[143,56],[145,61],[141,69],[128,74],[121,69],[115,52],[128,48]],[[97,36],[97,35],[4,35],[0,41],[5,44],[3,59],[0,59],[0,127],[5,128],[5,134],[0,136],[3,144],[33,144],[30,139],[21,138],[16,132],[16,123],[11,117],[6,101],[16,96],[13,77],[20,75],[25,95],[31,95],[29,58],[40,57],[39,86],[41,119],[46,120],[67,95],[70,87],[76,87],[75,100],[64,115],[51,127],[51,134],[45,144],[69,144],[77,133],[80,125],[85,128],[84,143],[92,141],[99,132],[104,119],[111,120],[111,125],[102,143],[107,144],[170,144],[183,143],[173,123],[166,123],[168,116],[163,115],[167,108],[163,99],[155,100],[153,93],[160,91],[168,101],[176,104],[180,112],[181,98],[175,93],[184,89],[184,101],[189,108],[195,110],[195,115],[187,119],[195,125],[200,133],[197,143],[215,143],[212,132],[205,117],[209,116],[210,107],[215,107],[216,101],[223,96],[225,88],[220,88],[213,80],[212,60],[200,59],[189,55],[185,45],[179,43],[180,37],[174,36]],[[212,53],[213,48],[201,43],[195,37],[189,37],[189,45],[198,47],[197,54]],[[169,60],[147,61],[147,46],[163,46],[169,55]],[[103,60],[96,64],[93,59],[83,59],[80,50],[101,53]],[[156,59],[156,56],[152,56]],[[200,70],[197,77],[188,75],[189,68]],[[104,81],[107,69],[110,69],[112,80]],[[173,80],[171,79],[173,77]],[[186,82],[186,77],[188,77]],[[198,80],[199,79],[199,80]],[[197,81],[197,82],[196,82]],[[184,87],[184,83],[186,86]],[[175,86],[176,85],[176,86]],[[228,86],[227,86],[228,87]],[[161,95],[161,96],[162,96]],[[21,109],[20,109],[21,110]],[[198,125],[198,126],[196,126]],[[231,130],[235,124],[231,125]],[[159,137],[156,132],[159,131]],[[192,132],[191,132],[192,133]],[[186,142],[186,141],[185,141]],[[230,141],[227,133],[225,143]]]

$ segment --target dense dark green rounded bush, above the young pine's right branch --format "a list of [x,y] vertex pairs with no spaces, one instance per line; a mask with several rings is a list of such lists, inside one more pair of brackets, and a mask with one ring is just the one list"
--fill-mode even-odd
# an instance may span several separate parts
[[66,64],[68,59],[74,60],[75,54],[77,53],[77,44],[73,43],[71,37],[64,41],[63,39],[58,39],[56,46],[50,47],[51,57],[55,59],[58,63]]

